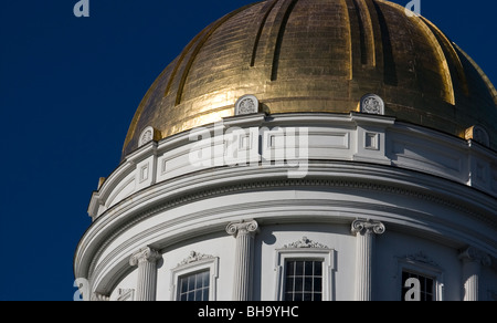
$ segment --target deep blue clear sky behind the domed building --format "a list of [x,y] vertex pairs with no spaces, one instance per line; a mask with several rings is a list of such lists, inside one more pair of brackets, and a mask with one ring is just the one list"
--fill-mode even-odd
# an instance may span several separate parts
[[[73,299],[73,256],[133,115],[205,25],[255,0],[3,0],[0,301]],[[409,0],[396,0],[405,6]],[[497,83],[497,1],[421,0],[421,13]]]

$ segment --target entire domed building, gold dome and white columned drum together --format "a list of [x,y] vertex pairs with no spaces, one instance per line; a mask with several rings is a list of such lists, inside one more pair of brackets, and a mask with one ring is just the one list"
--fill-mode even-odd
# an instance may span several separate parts
[[497,300],[496,125],[484,71],[402,6],[240,8],[138,106],[89,201],[83,298]]

